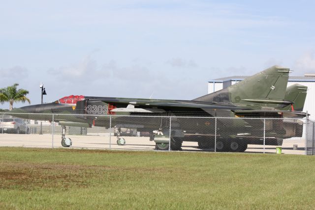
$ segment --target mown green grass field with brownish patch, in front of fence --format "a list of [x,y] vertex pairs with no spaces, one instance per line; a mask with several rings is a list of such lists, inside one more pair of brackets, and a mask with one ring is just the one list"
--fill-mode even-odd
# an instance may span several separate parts
[[315,156],[0,148],[0,209],[314,209]]

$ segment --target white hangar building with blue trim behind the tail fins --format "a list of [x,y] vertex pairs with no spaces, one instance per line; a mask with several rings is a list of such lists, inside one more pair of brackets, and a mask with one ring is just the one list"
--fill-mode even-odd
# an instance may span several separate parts
[[[210,80],[208,82],[208,93],[227,88],[231,85],[234,85],[235,83],[244,80],[246,77],[248,76],[232,76]],[[308,87],[303,111],[308,111],[308,113],[311,115],[310,119],[315,120],[315,74],[305,74],[301,77],[289,77],[287,86],[294,85],[296,83]]]

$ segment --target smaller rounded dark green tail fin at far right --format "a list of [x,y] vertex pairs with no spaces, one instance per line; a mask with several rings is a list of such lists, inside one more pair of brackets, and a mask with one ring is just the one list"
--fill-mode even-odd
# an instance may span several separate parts
[[294,84],[287,87],[284,99],[294,102],[294,104],[285,106],[281,110],[303,111],[304,103],[307,94],[307,87],[299,84]]

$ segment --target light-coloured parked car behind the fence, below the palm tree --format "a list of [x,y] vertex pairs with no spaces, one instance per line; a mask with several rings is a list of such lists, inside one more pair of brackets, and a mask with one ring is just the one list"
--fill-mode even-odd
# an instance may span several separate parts
[[30,128],[20,118],[3,118],[0,119],[0,133],[30,134]]

